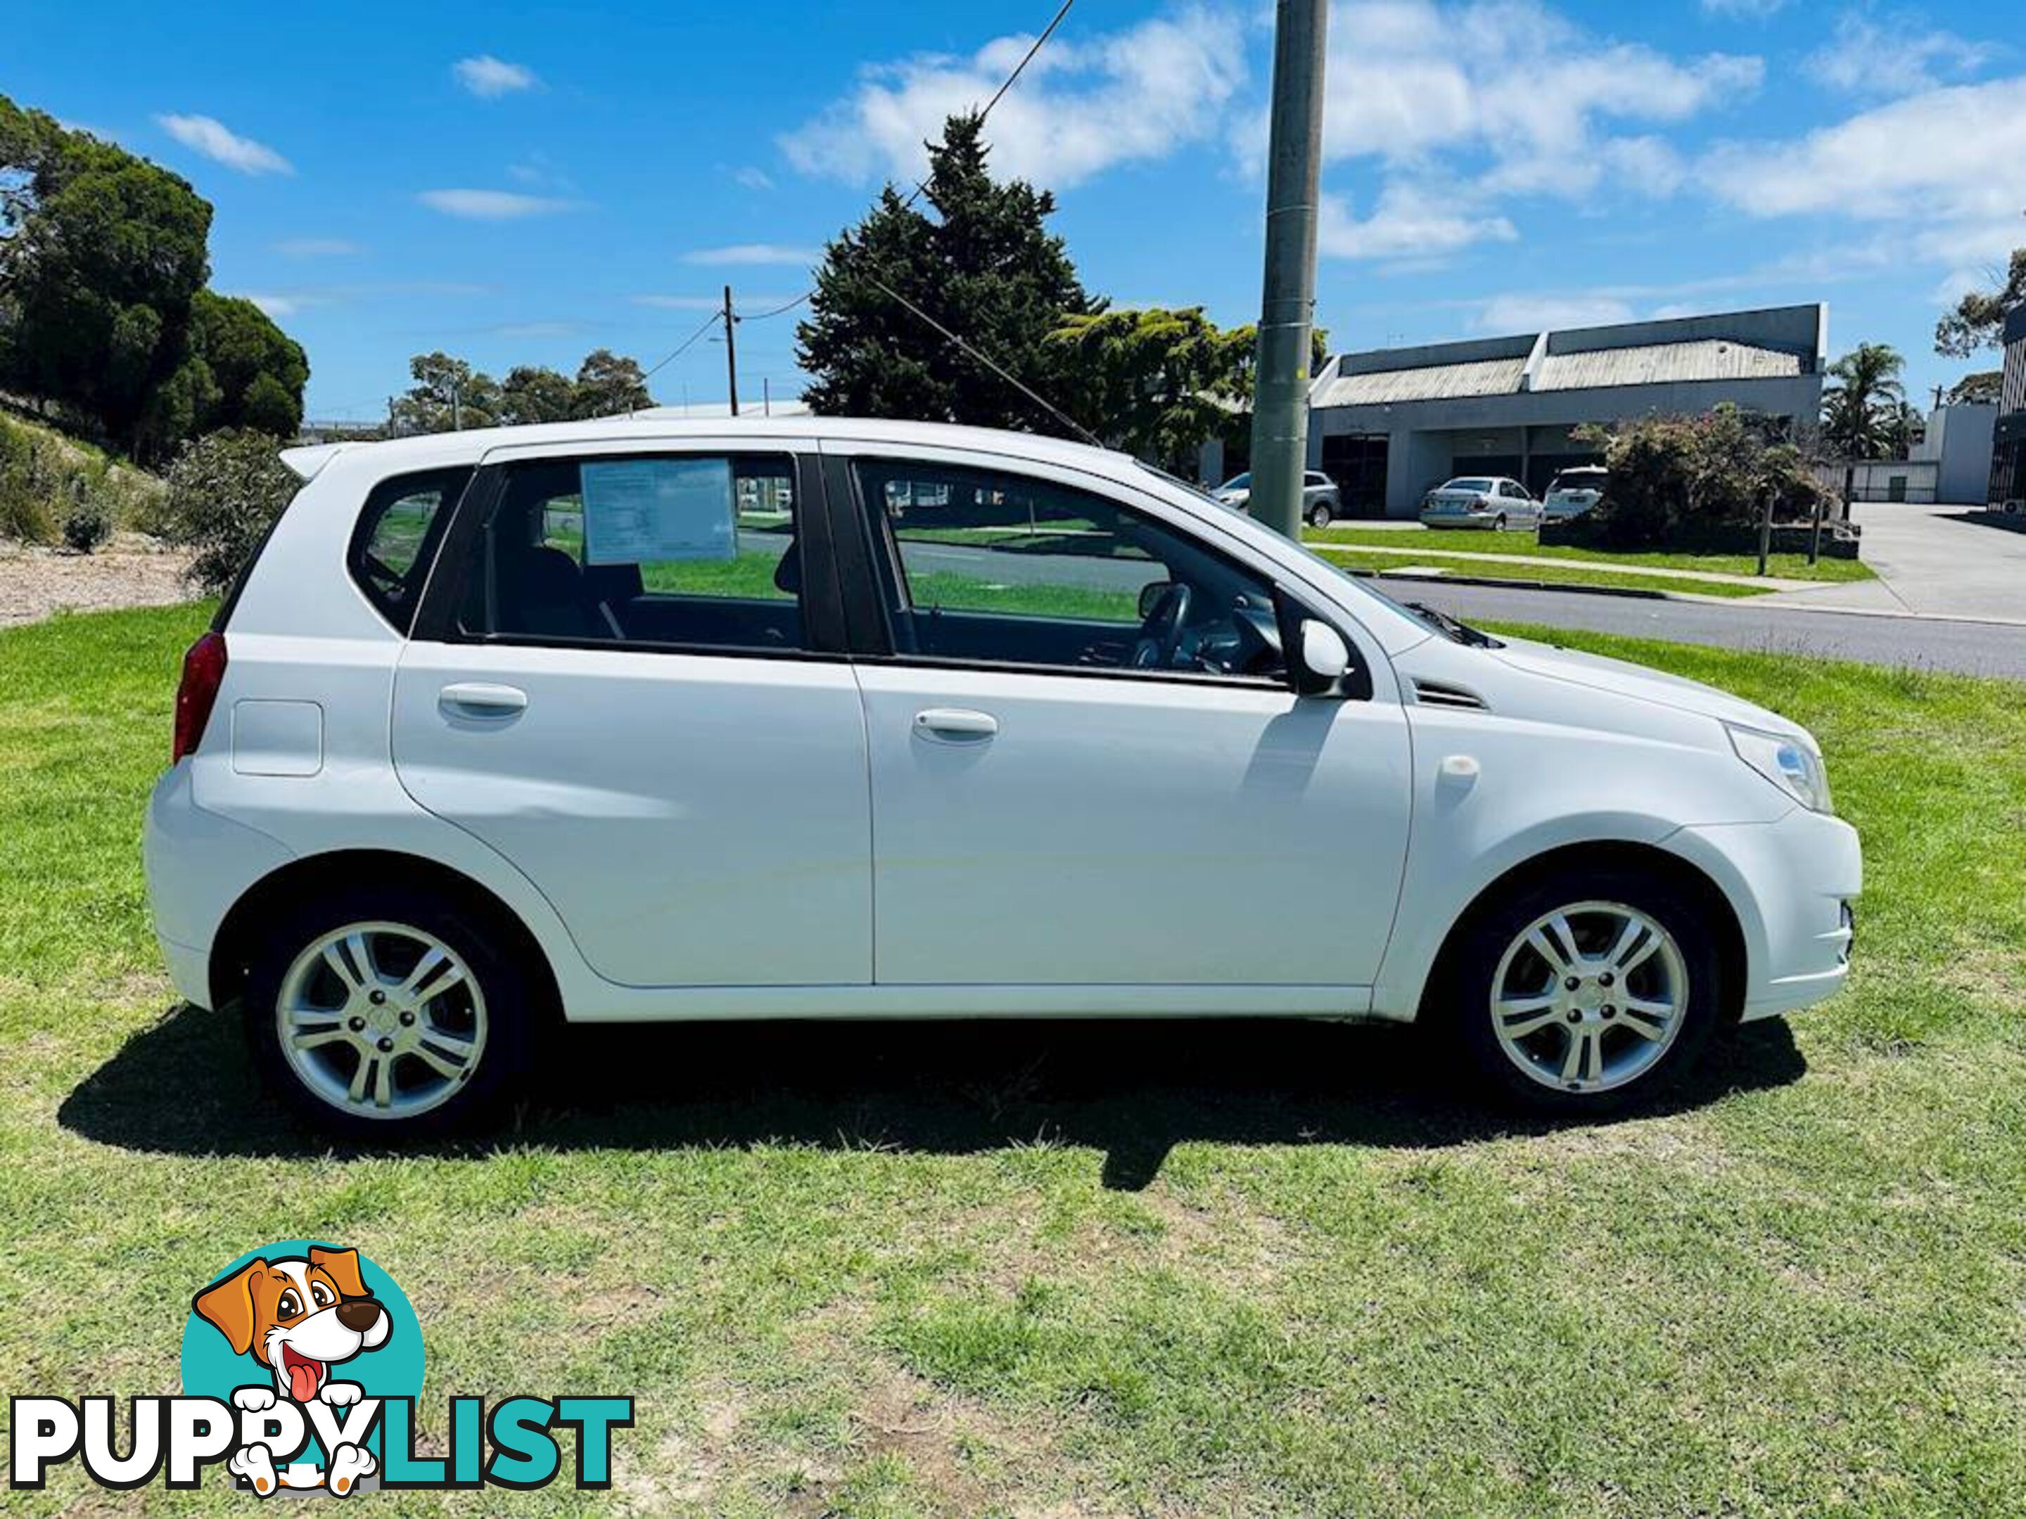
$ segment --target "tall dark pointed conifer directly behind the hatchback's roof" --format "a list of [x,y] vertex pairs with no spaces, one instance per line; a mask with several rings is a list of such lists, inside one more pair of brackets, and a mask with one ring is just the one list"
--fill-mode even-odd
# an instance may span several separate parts
[[887,184],[865,219],[825,247],[808,318],[796,326],[798,363],[814,377],[802,397],[814,411],[1062,431],[1045,407],[904,304],[1047,397],[1074,361],[1072,346],[1049,336],[1066,318],[1102,310],[1045,227],[1056,196],[993,180],[981,128],[977,113],[952,115],[942,142],[928,144],[926,211]]

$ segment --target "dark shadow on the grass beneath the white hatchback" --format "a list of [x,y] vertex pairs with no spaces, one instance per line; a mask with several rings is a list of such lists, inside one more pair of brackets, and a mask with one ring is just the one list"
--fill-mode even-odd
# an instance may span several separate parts
[[[1805,1069],[1785,1023],[1750,1025],[1639,1116]],[[241,1156],[1056,1142],[1102,1150],[1104,1185],[1122,1191],[1189,1140],[1428,1148],[1558,1128],[1475,1100],[1412,1029],[1278,1019],[575,1027],[537,1080],[531,1102],[478,1134],[334,1142],[261,1090],[235,1019],[184,1005],[71,1092],[59,1122],[132,1150]]]

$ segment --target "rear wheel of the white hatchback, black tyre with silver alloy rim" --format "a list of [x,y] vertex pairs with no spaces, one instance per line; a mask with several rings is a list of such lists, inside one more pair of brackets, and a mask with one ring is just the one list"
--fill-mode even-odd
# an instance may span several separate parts
[[521,960],[496,924],[432,891],[312,897],[249,966],[255,1065],[296,1114],[350,1138],[482,1126],[533,1063],[545,978]]

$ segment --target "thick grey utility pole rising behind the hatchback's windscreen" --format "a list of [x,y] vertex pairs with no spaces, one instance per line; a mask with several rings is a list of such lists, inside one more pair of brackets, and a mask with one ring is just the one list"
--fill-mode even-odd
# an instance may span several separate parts
[[1266,148],[1266,282],[1252,389],[1252,516],[1291,539],[1301,537],[1301,476],[1309,468],[1309,330],[1315,322],[1327,24],[1327,0],[1278,0]]

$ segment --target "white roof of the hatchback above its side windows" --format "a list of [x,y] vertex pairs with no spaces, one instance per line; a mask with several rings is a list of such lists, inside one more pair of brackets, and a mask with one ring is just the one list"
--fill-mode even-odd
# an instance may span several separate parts
[[[1131,454],[1076,444],[1066,437],[1045,433],[1015,433],[997,427],[960,427],[944,421],[889,421],[873,417],[683,417],[673,407],[634,411],[626,417],[598,417],[592,421],[549,421],[529,427],[472,427],[454,433],[419,433],[415,437],[389,437],[375,444],[316,444],[310,448],[282,450],[282,462],[304,480],[318,474],[332,458],[363,456],[367,450],[385,474],[405,474],[409,470],[444,470],[460,464],[478,464],[496,448],[541,448],[547,444],[636,444],[652,439],[709,437],[752,437],[756,444],[792,444],[835,437],[839,442],[871,444],[940,444],[944,448],[972,448],[993,454],[1017,452],[1029,460],[1070,464],[1098,474],[1116,474],[1120,468],[1137,468]],[[1017,444],[1009,450],[1009,444]]]

